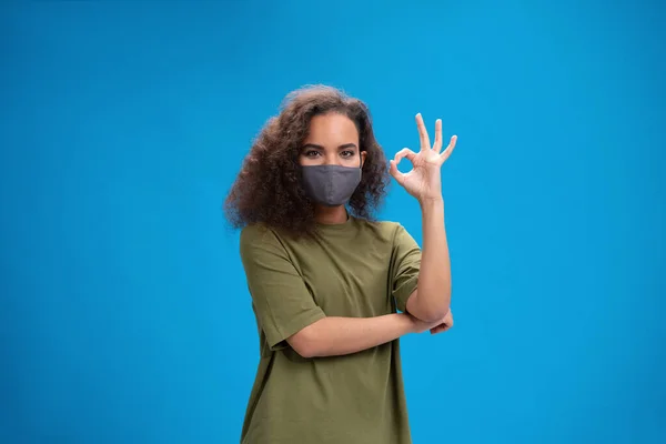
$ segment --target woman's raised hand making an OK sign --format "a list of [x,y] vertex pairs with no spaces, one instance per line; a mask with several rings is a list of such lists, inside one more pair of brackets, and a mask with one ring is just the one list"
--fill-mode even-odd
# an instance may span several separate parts
[[[408,148],[398,151],[391,161],[391,175],[421,203],[430,200],[441,200],[441,168],[453,152],[457,137],[452,137],[448,147],[444,152],[440,152],[443,144],[442,120],[437,119],[435,122],[435,143],[432,147],[421,114],[416,114],[416,125],[421,138],[421,151],[415,153]],[[403,158],[407,158],[412,162],[413,169],[407,173],[401,173],[397,170],[397,165]]]

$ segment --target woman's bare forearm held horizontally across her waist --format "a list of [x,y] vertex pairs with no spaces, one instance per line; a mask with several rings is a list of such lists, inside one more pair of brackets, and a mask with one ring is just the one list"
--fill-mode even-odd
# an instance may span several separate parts
[[336,356],[361,352],[396,340],[415,329],[408,314],[376,317],[324,317],[287,340],[304,357]]

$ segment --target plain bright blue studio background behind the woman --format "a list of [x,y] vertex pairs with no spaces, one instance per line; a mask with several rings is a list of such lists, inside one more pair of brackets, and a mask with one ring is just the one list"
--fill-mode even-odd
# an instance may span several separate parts
[[[415,443],[666,442],[657,1],[4,2],[0,442],[233,443],[258,339],[221,204],[329,83],[443,170],[456,326],[404,339]],[[406,165],[405,165],[406,168]],[[393,186],[383,219],[421,241]]]

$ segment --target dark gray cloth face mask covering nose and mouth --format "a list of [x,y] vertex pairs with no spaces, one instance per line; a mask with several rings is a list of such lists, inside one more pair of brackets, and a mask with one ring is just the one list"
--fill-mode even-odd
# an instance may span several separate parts
[[303,167],[303,186],[310,198],[326,206],[344,205],[361,183],[361,168]]

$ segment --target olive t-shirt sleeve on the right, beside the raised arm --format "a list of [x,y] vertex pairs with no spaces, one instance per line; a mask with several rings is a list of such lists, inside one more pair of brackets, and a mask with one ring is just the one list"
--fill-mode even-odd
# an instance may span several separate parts
[[407,300],[418,284],[421,248],[404,226],[397,224],[393,239],[392,293],[397,310],[406,312]]

